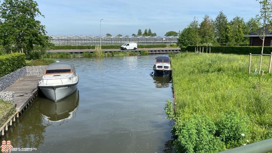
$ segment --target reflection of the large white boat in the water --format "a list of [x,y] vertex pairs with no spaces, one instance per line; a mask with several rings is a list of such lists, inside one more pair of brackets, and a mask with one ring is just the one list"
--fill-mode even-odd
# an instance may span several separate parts
[[60,122],[75,117],[79,104],[79,92],[76,90],[72,95],[57,103],[45,97],[41,98],[41,101],[39,110],[45,116],[45,119]]

